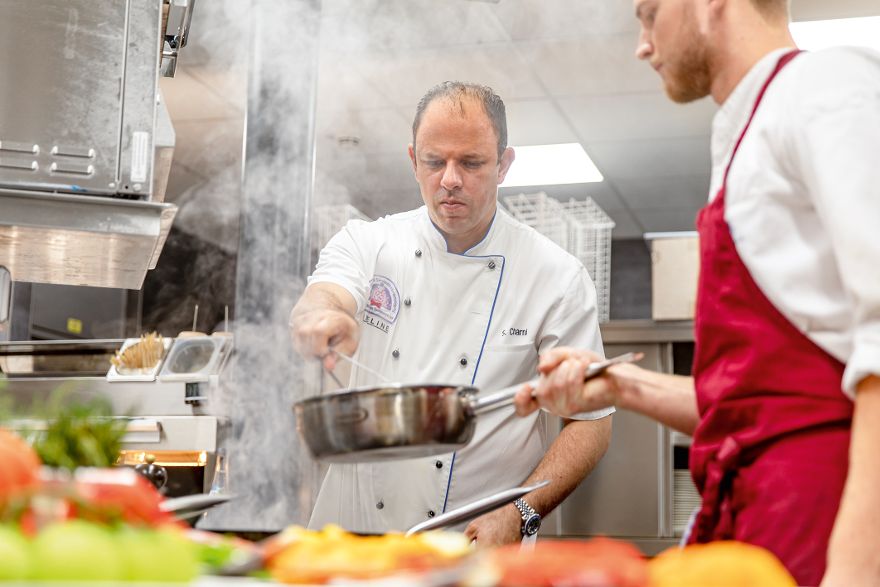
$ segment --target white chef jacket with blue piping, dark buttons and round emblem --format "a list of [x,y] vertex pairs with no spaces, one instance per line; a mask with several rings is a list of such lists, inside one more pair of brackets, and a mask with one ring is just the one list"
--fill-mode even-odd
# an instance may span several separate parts
[[[538,354],[557,344],[602,353],[596,291],[583,265],[502,210],[462,255],[447,252],[425,207],[353,220],[321,252],[309,278],[319,282],[354,296],[356,359],[392,381],[472,384],[491,393],[535,377]],[[352,367],[350,385],[377,383]],[[456,453],[331,465],[309,526],[405,530],[515,487],[552,442],[547,419],[544,412],[519,418],[508,407],[481,415],[473,440]]]

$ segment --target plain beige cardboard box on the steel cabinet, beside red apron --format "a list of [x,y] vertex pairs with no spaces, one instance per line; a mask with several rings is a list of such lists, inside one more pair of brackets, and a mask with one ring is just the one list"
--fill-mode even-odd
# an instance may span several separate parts
[[651,243],[651,315],[692,320],[697,303],[700,244],[696,233],[645,235]]

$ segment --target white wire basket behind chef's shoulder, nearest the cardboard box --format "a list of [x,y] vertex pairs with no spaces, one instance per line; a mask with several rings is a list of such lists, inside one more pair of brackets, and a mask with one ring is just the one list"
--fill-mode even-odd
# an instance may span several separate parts
[[596,285],[599,322],[611,306],[611,229],[614,221],[592,198],[562,204],[568,219],[568,252],[580,259]]

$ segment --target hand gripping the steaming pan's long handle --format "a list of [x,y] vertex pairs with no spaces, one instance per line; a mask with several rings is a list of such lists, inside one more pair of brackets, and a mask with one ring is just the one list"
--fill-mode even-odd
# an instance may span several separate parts
[[619,389],[612,372],[629,365],[615,365],[584,383],[587,367],[601,360],[596,353],[567,347],[544,353],[538,363],[542,374],[538,388],[525,386],[516,394],[517,414],[525,416],[545,408],[553,414],[571,416],[616,405]]

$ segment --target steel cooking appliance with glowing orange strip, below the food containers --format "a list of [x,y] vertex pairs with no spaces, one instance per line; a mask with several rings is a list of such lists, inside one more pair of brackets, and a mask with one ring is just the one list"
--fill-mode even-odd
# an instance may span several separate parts
[[[225,425],[225,420],[209,412],[209,402],[221,384],[219,367],[225,355],[217,371],[196,373],[188,380],[108,379],[110,357],[124,342],[0,343],[0,377],[9,401],[4,408],[12,411],[12,426],[37,434],[45,429],[41,406],[59,392],[70,401],[103,397],[115,417],[127,421],[118,465],[162,467],[166,475],[162,492],[169,497],[208,493],[218,437]],[[231,352],[231,341],[228,344],[225,348]]]

